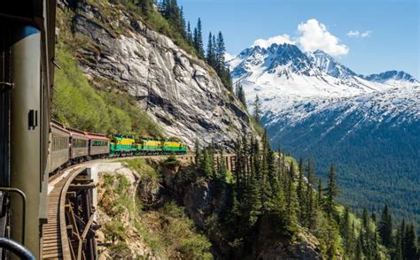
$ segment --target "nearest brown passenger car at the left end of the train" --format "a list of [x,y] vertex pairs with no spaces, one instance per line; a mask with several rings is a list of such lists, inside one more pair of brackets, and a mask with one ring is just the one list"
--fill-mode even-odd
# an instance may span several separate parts
[[51,134],[51,168],[49,172],[54,172],[70,159],[70,133],[62,126],[52,123]]

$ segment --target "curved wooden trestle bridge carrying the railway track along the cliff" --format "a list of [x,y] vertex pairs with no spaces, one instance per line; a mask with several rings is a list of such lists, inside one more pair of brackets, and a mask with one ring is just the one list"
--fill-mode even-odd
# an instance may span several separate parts
[[[178,159],[194,163],[194,155],[177,156]],[[54,175],[48,184],[48,222],[43,225],[42,259],[97,259],[95,232],[96,206],[93,192],[96,183],[89,167],[98,162],[112,162],[115,159],[90,161],[73,165]],[[236,157],[225,155],[229,171],[235,170]],[[222,162],[214,157],[214,164]]]

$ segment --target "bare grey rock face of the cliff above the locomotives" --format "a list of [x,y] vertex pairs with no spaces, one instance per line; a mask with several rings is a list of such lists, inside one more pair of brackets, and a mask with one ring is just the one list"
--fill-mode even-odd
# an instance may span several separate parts
[[79,10],[73,18],[73,33],[97,45],[97,50],[79,50],[88,57],[79,64],[93,84],[95,79],[117,82],[128,95],[136,96],[140,108],[162,123],[167,135],[190,146],[198,138],[202,144],[214,139],[232,147],[239,133],[253,131],[238,100],[228,95],[202,60],[123,10],[110,22],[123,28],[121,34],[102,26],[105,18],[96,7],[82,4]]

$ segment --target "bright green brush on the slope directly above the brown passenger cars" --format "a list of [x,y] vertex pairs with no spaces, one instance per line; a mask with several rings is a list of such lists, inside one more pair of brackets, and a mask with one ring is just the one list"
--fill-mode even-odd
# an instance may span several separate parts
[[103,134],[162,135],[162,130],[127,94],[91,87],[69,50],[57,50],[52,116],[66,126]]

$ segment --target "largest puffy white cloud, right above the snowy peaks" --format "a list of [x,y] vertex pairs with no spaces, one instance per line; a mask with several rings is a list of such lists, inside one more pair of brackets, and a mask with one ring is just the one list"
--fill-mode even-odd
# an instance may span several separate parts
[[332,56],[348,53],[348,47],[345,44],[339,44],[339,39],[316,19],[308,19],[307,22],[300,23],[298,31],[301,34],[298,42],[305,51],[323,50]]

